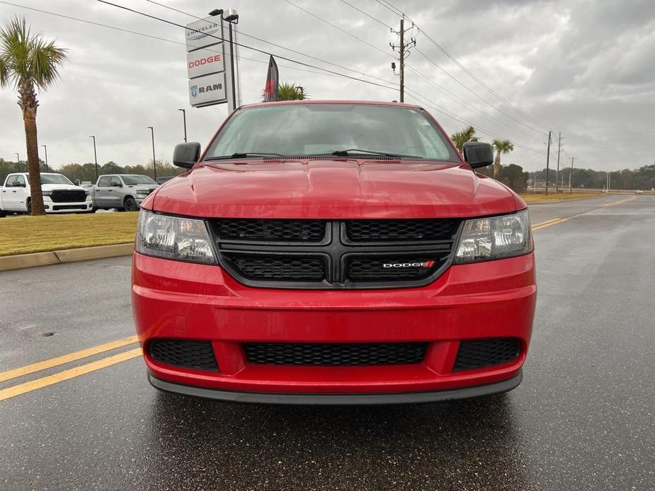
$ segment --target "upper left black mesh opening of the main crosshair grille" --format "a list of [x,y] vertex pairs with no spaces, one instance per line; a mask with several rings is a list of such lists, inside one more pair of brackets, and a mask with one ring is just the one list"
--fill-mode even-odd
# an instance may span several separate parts
[[325,236],[322,220],[224,219],[215,221],[221,239],[269,242],[320,242]]

